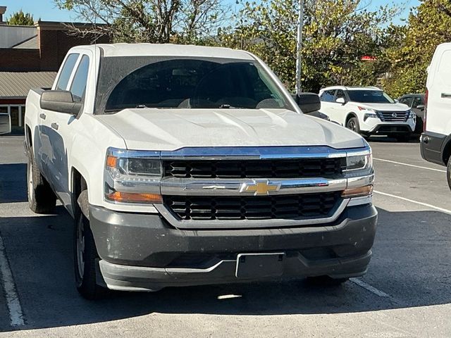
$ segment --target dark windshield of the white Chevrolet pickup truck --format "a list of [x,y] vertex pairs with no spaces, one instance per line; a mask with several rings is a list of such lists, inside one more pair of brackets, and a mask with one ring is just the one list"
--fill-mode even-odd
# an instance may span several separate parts
[[[104,58],[104,61],[109,61]],[[257,62],[215,58],[114,59],[116,79],[108,73],[103,111],[124,108],[286,108],[294,110]],[[153,61],[153,62],[152,62]],[[111,66],[106,67],[106,69]],[[131,69],[130,69],[131,68]],[[122,69],[122,70],[121,70]],[[124,71],[125,70],[125,71]]]

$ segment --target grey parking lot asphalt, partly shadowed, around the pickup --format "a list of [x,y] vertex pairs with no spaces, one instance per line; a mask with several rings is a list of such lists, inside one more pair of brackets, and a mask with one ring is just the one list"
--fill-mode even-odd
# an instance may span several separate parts
[[419,143],[370,144],[379,221],[363,277],[341,287],[184,287],[89,302],[73,282],[70,216],[61,206],[55,215],[30,211],[23,137],[0,137],[0,239],[23,320],[11,325],[11,299],[0,292],[0,337],[451,337],[445,168],[422,160]]

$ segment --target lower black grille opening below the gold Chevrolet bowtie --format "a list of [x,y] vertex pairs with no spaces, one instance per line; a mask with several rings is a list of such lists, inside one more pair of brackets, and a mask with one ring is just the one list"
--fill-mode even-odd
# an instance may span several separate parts
[[341,192],[274,196],[163,196],[180,220],[270,220],[326,217]]

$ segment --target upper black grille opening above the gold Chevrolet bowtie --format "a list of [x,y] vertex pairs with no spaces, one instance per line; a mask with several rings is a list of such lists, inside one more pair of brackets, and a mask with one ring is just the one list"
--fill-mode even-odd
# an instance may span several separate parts
[[302,178],[333,177],[346,166],[345,158],[297,160],[163,161],[164,177],[180,178]]

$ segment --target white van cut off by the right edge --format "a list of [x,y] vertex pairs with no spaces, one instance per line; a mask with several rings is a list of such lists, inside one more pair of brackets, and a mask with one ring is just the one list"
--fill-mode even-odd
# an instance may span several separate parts
[[428,68],[421,156],[447,166],[451,188],[451,43],[440,44]]

